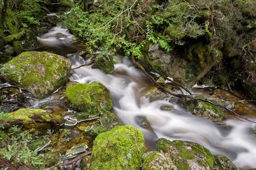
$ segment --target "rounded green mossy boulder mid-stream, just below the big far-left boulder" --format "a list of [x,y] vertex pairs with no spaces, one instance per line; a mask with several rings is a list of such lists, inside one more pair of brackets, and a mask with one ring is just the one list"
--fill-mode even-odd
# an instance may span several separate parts
[[101,83],[69,86],[66,96],[69,108],[79,112],[100,113],[113,106],[108,88]]

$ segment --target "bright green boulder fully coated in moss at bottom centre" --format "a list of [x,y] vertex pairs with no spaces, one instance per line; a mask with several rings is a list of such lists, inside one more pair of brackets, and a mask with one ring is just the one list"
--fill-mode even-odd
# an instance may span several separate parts
[[91,170],[139,170],[144,152],[140,130],[117,126],[100,133],[93,142]]

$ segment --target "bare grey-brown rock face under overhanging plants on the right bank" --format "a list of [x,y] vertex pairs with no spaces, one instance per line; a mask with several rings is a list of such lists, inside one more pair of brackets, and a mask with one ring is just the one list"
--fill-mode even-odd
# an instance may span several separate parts
[[[189,54],[185,54],[181,50],[167,53],[157,44],[150,45],[147,54],[148,60],[142,59],[140,62],[144,68],[152,70],[153,66],[166,77],[172,77],[176,82],[180,82],[185,87],[192,88],[198,80],[207,74],[212,66],[220,61],[222,55],[221,52],[220,54],[211,54],[208,47],[203,44],[197,44],[191,48],[192,52],[190,52],[190,55],[192,61],[187,59]],[[214,60],[212,60],[213,56],[215,56]],[[196,59],[192,59],[193,57],[198,57],[198,60],[201,57],[202,62],[194,61]]]

